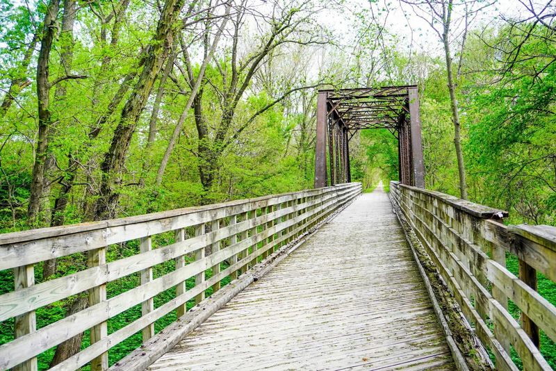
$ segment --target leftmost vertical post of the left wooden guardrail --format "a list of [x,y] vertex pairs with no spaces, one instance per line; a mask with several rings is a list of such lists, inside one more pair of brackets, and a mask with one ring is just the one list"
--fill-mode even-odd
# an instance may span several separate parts
[[[35,267],[33,264],[16,267],[13,269],[14,288],[22,290],[35,284]],[[18,315],[15,318],[14,335],[15,338],[21,338],[28,333],[37,331],[37,319],[35,311]],[[24,363],[17,365],[13,370],[17,371],[36,371],[38,370],[37,358],[33,357]]]

